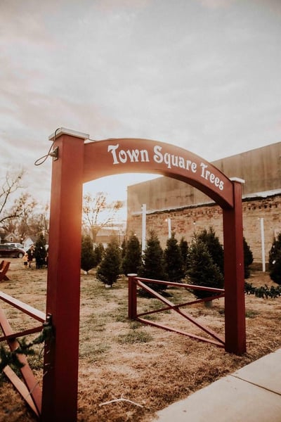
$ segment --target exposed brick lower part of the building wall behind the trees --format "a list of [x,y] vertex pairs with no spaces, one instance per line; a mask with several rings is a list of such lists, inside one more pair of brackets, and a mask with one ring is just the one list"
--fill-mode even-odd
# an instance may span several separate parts
[[[266,262],[268,252],[273,243],[274,236],[281,231],[281,195],[268,196],[267,198],[245,198],[243,207],[243,230],[251,251],[254,262],[262,262],[261,252],[261,219],[263,219],[264,248]],[[178,241],[184,237],[190,243],[195,231],[208,229],[213,226],[216,235],[223,243],[223,215],[221,207],[216,204],[197,205],[180,208],[178,210],[148,213],[146,217],[146,236],[155,230],[162,248],[168,238],[168,222],[171,219],[171,230],[176,233]],[[127,234],[133,233],[141,241],[142,215],[130,215],[127,222]]]

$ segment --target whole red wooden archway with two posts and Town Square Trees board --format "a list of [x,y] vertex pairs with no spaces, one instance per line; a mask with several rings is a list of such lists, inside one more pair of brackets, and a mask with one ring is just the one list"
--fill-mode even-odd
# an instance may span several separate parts
[[[226,351],[246,351],[241,180],[183,148],[148,139],[89,141],[58,129],[53,141],[46,313],[55,340],[47,343],[41,420],[76,421],[79,355],[83,183],[110,174],[174,177],[206,193],[223,209]],[[86,141],[88,140],[88,141]]]

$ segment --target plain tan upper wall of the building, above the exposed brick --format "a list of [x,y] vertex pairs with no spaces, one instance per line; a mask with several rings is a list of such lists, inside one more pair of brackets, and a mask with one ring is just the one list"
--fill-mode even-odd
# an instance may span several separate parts
[[[212,162],[227,177],[244,179],[243,197],[281,190],[281,142]],[[210,198],[183,181],[159,177],[128,186],[128,214],[141,210],[171,210],[210,203]]]

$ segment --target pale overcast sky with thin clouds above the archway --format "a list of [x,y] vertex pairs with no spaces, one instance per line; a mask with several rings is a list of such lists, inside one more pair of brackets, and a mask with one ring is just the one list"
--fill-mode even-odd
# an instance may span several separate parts
[[[0,34],[0,176],[25,167],[39,200],[58,127],[208,161],[281,140],[280,0],[0,0]],[[91,188],[123,200],[142,179]]]

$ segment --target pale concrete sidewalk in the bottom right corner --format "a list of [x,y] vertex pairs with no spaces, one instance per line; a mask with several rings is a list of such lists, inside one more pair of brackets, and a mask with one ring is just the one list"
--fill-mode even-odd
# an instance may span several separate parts
[[157,413],[155,422],[281,422],[281,349]]

